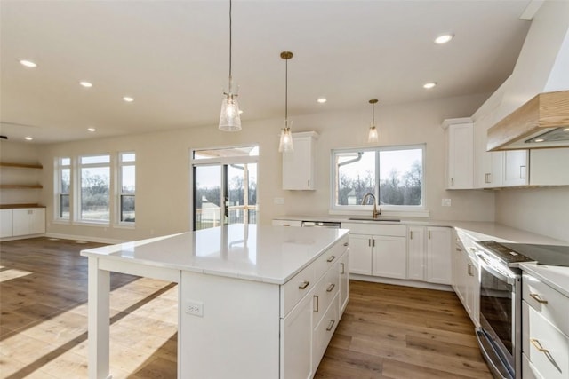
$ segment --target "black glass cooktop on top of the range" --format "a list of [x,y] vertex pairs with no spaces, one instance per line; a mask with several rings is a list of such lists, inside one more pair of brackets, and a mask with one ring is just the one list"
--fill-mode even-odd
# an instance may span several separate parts
[[569,246],[496,241],[479,241],[477,244],[507,265],[537,262],[539,265],[569,266]]

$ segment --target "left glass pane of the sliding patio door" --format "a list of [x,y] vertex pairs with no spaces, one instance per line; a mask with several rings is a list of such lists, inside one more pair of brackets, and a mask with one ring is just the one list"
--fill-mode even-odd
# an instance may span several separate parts
[[195,229],[221,225],[221,166],[195,167]]

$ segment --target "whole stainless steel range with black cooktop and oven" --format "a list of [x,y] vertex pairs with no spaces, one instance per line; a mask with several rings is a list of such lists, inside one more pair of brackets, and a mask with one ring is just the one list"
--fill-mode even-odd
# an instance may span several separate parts
[[569,266],[569,247],[476,242],[480,262],[477,339],[494,377],[522,377],[520,263]]

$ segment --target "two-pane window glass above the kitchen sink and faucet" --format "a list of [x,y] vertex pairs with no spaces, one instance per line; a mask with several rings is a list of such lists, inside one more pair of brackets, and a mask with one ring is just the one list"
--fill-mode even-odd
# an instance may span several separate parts
[[424,152],[422,145],[333,150],[332,208],[362,209],[373,193],[384,210],[424,209]]

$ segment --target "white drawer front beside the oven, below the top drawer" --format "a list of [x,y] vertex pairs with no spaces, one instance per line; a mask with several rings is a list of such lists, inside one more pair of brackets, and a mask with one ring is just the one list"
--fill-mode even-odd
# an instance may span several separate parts
[[569,337],[549,323],[532,306],[522,304],[525,333],[522,349],[525,356],[543,377],[569,377]]

